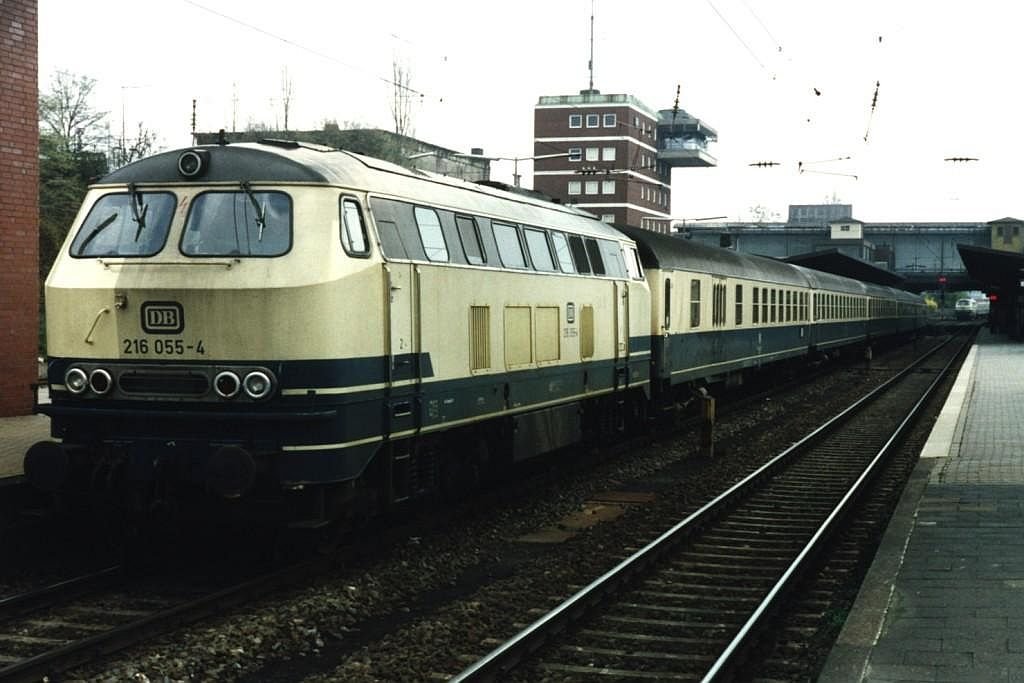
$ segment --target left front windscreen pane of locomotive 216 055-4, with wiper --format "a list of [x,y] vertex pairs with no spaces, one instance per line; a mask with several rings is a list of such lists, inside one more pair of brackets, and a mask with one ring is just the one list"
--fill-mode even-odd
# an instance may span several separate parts
[[103,195],[82,222],[71,255],[153,256],[167,242],[176,206],[170,193]]

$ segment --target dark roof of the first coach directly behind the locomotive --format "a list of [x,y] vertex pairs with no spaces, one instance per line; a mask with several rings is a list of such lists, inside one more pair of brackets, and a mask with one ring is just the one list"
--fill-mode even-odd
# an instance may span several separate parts
[[640,260],[645,267],[712,272],[780,285],[808,286],[804,269],[781,261],[740,254],[731,249],[709,247],[691,240],[636,227],[620,229],[637,243]]

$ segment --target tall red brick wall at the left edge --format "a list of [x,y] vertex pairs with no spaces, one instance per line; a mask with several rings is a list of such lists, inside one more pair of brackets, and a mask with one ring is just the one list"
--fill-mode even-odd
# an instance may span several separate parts
[[39,344],[38,0],[0,0],[0,416],[32,411]]

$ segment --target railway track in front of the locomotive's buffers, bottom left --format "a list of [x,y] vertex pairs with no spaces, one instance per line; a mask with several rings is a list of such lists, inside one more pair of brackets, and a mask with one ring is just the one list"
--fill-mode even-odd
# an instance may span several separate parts
[[127,578],[121,567],[0,600],[0,681],[39,681],[308,578],[323,560],[238,583]]

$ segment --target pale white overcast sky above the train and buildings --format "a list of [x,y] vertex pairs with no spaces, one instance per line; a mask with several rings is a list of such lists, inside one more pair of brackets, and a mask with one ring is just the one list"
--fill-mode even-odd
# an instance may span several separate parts
[[[595,6],[594,87],[658,110],[681,86],[680,106],[719,133],[718,168],[673,172],[676,217],[830,201],[866,221],[1024,217],[1017,2]],[[123,113],[176,148],[194,98],[201,131],[283,125],[286,70],[292,129],[393,128],[397,61],[417,137],[526,157],[538,97],[588,87],[590,14],[591,0],[40,0],[40,88],[57,70],[90,76],[115,130]]]

